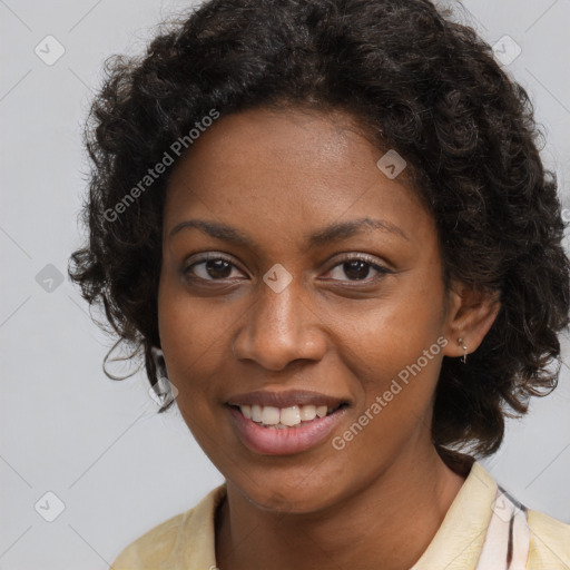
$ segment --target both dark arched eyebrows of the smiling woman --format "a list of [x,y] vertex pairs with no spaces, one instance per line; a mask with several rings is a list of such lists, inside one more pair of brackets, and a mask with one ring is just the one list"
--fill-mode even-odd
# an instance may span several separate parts
[[[217,239],[232,242],[236,245],[254,248],[255,242],[237,230],[236,228],[218,222],[210,222],[205,219],[187,219],[176,224],[170,230],[169,237],[174,237],[178,232],[184,228],[197,228]],[[391,234],[399,235],[406,240],[410,238],[405,233],[394,224],[384,219],[360,218],[350,222],[337,222],[324,228],[317,229],[309,236],[306,236],[307,246],[309,249],[322,246],[328,242],[345,239],[360,234],[364,230],[380,229]]]

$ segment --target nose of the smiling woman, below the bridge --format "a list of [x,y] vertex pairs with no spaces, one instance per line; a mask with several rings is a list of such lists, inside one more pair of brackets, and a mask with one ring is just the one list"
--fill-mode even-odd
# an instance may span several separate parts
[[234,337],[237,360],[281,371],[292,361],[318,361],[324,356],[327,343],[323,322],[294,282],[281,293],[261,283],[259,296]]

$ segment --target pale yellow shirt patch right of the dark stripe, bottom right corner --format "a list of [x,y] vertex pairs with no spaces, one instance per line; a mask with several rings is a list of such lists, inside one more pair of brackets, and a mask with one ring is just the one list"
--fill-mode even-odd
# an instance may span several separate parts
[[540,512],[528,511],[529,568],[570,568],[570,524]]

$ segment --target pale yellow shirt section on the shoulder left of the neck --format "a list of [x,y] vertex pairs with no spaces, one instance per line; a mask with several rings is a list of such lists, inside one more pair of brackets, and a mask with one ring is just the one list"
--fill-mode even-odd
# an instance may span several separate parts
[[[208,557],[214,548],[214,517],[225,485],[210,491],[194,508],[151,528],[128,544],[110,570],[174,570],[187,568],[185,556]],[[207,567],[206,567],[207,568]]]

